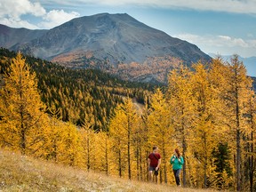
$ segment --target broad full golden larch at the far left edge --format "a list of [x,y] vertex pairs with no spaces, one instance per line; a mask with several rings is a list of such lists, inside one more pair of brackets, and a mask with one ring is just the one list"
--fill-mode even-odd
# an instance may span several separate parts
[[0,93],[0,142],[2,146],[34,154],[44,145],[44,104],[37,91],[36,73],[18,53]]

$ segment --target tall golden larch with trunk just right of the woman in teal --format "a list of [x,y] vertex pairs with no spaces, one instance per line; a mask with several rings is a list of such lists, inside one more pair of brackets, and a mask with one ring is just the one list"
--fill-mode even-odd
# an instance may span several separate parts
[[[189,68],[180,66],[173,69],[168,77],[168,91],[166,100],[172,106],[172,120],[175,129],[174,137],[177,145],[182,148],[184,156],[183,180],[184,187],[187,186],[187,166],[188,166],[188,141],[191,140],[193,122],[195,119],[195,100],[192,95],[192,85],[190,79],[192,72]],[[193,177],[193,174],[191,174]]]

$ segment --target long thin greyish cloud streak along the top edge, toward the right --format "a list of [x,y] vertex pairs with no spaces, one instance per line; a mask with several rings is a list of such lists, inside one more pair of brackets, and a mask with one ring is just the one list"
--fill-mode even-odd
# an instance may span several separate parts
[[256,0],[44,0],[45,4],[140,5],[168,9],[193,9],[213,12],[256,14]]

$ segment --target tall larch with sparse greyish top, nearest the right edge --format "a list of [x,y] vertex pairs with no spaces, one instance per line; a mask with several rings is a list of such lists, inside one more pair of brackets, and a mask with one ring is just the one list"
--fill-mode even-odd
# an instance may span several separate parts
[[[250,103],[252,79],[246,75],[246,69],[238,55],[231,58],[227,63],[226,80],[228,86],[222,93],[228,107],[225,117],[228,119],[229,136],[232,138],[233,148],[236,152],[236,190],[244,190],[244,134],[248,132],[247,108]],[[230,140],[231,141],[231,140]]]

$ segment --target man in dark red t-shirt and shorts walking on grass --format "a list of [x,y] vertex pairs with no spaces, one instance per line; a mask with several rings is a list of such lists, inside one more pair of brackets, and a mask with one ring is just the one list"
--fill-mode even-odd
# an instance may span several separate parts
[[157,153],[158,148],[156,146],[153,147],[153,152],[149,154],[148,156],[148,176],[149,180],[153,181],[153,172],[156,176],[156,182],[157,182],[157,175],[159,171],[159,166],[161,164],[161,156],[159,153]]

